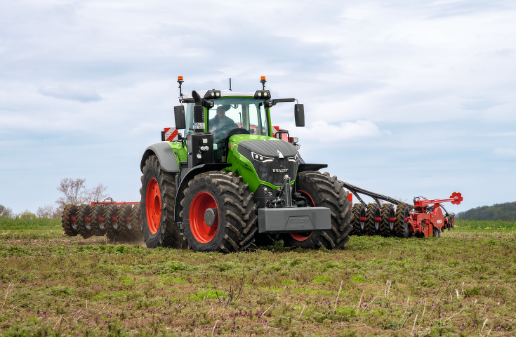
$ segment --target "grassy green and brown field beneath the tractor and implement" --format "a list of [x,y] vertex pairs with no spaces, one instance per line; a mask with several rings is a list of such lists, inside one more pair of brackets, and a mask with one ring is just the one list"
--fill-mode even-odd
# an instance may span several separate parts
[[1,336],[512,336],[516,223],[192,253],[0,220]]

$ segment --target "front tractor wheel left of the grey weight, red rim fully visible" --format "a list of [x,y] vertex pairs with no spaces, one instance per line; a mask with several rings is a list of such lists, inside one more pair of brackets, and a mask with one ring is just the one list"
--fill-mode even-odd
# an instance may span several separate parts
[[[254,243],[258,216],[253,193],[242,177],[210,171],[193,178],[181,201],[180,216],[188,248],[193,251],[242,251]],[[212,212],[212,225],[206,214]]]

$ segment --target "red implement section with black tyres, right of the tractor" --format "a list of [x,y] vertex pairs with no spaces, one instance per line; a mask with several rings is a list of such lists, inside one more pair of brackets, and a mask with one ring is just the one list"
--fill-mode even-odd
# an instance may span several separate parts
[[[352,208],[352,232],[355,235],[382,235],[384,237],[440,237],[444,229],[454,227],[454,213],[448,213],[444,202],[461,204],[461,193],[454,192],[449,199],[429,200],[414,198],[414,205],[392,197],[364,190],[355,185],[341,182],[348,188],[359,203]],[[373,198],[376,203],[366,204],[359,194]],[[381,204],[381,201],[391,204]],[[444,211],[444,214],[443,214]]]

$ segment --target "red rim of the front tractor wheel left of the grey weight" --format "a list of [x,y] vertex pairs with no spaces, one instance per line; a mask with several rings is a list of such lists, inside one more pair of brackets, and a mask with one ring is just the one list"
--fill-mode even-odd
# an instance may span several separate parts
[[190,229],[194,238],[202,244],[210,242],[217,234],[218,221],[208,226],[204,222],[206,209],[218,209],[215,199],[209,192],[200,192],[192,200],[190,205]]

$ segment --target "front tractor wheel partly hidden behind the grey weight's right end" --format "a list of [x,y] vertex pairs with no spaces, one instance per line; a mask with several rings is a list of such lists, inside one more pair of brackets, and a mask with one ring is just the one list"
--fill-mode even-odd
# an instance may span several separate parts
[[336,176],[319,171],[305,171],[296,179],[297,191],[310,197],[311,206],[327,207],[331,214],[331,229],[306,233],[284,233],[281,237],[286,246],[304,249],[343,249],[352,230],[349,192],[344,190]]

